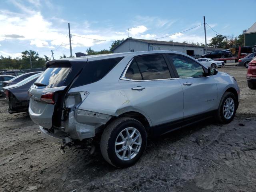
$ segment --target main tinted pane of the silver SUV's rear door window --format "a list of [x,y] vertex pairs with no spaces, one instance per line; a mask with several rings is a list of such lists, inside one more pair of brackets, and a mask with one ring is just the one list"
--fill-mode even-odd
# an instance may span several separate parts
[[171,78],[162,55],[147,55],[136,58],[143,80]]

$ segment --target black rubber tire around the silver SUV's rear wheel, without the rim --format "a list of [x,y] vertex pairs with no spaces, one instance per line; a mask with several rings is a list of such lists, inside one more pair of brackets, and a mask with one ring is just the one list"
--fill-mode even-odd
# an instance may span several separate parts
[[[125,128],[134,127],[141,135],[142,141],[138,154],[130,160],[121,160],[115,152],[115,142],[118,134]],[[147,133],[144,126],[133,118],[121,117],[111,122],[104,130],[100,140],[100,150],[103,158],[117,168],[125,168],[135,164],[145,151],[147,144]]]

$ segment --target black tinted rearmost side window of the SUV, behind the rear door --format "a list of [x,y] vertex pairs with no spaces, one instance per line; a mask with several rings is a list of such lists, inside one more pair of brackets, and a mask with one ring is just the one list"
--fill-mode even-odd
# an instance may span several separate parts
[[87,62],[76,82],[72,87],[90,84],[102,79],[124,57],[96,60]]

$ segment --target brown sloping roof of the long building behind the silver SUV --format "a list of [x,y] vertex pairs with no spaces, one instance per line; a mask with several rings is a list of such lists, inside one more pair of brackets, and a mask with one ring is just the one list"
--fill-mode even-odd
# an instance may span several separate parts
[[[192,44],[189,44],[189,43],[157,41],[157,40],[147,40],[147,39],[134,39],[134,38],[127,38],[122,43],[126,42],[127,40],[134,40],[134,41],[140,41],[140,42],[144,42],[144,43],[148,43],[148,44],[158,44],[158,45],[179,45],[179,46],[190,46],[190,47],[204,47],[204,46],[192,45]],[[120,46],[122,43],[120,43],[118,46]],[[112,51],[115,50],[118,46],[114,47],[112,49]]]

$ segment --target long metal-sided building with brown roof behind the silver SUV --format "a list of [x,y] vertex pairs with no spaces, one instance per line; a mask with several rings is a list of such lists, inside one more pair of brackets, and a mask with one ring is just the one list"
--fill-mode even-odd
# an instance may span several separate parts
[[[205,54],[205,49],[203,46],[196,46],[188,43],[134,39],[134,38],[127,38],[118,46],[112,49],[114,53],[134,52],[134,51],[153,51],[153,50],[178,51],[188,55]],[[209,47],[207,48],[207,53],[214,50],[224,50],[224,49]]]

